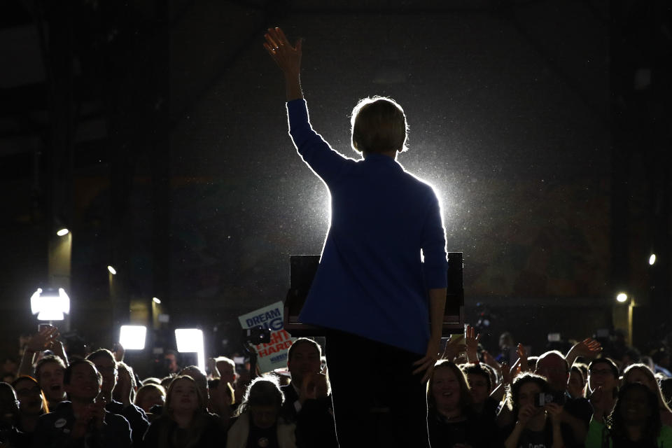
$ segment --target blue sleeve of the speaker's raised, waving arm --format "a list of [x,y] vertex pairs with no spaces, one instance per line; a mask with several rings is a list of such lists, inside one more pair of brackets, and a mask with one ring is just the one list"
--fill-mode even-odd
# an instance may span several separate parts
[[354,160],[345,158],[334,151],[322,136],[310,125],[308,109],[304,99],[294,99],[287,103],[289,135],[296,151],[304,162],[329,186]]

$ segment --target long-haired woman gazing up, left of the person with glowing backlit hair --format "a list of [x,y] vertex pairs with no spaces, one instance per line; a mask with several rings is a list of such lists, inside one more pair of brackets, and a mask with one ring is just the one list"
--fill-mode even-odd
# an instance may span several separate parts
[[225,435],[192,377],[182,375],[170,384],[163,414],[144,437],[146,448],[221,447]]

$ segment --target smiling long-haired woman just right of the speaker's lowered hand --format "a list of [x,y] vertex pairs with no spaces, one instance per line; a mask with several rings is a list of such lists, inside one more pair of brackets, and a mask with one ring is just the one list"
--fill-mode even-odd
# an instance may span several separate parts
[[465,374],[449,360],[440,360],[427,383],[427,426],[432,447],[497,447],[492,419],[473,408]]

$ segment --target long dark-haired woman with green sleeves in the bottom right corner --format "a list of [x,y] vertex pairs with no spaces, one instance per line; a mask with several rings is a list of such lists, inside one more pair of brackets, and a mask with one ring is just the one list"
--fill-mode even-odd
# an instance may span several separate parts
[[[602,410],[595,409],[596,413]],[[591,419],[585,446],[672,447],[672,428],[661,424],[658,399],[650,388],[641,383],[626,383],[606,421]]]

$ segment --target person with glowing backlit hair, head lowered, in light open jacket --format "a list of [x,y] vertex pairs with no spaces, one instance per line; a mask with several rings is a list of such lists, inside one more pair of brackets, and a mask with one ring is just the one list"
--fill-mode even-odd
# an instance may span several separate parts
[[255,378],[236,411],[227,434],[227,448],[296,448],[296,425],[280,416],[283,400],[275,377]]

